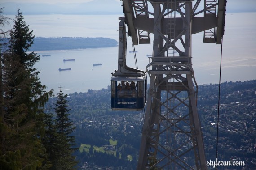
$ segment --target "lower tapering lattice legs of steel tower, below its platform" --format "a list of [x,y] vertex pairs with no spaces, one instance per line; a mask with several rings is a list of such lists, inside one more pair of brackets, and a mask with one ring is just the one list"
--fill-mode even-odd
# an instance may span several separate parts
[[206,170],[192,73],[152,79],[137,170]]

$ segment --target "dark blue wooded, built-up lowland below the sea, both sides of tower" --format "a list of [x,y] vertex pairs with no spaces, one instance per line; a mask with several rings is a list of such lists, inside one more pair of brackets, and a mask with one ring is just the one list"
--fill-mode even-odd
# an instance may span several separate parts
[[[219,160],[245,161],[247,167],[254,167],[255,93],[255,80],[221,84]],[[144,113],[110,110],[110,91],[107,89],[70,94],[68,100],[71,119],[76,125],[74,136],[80,147],[75,153],[80,169],[135,170]],[[54,98],[50,101],[53,102]],[[218,84],[199,85],[198,111],[207,161],[215,161],[216,157],[217,103]],[[218,167],[220,170],[224,168],[227,167]],[[232,168],[241,170],[242,167]]]

